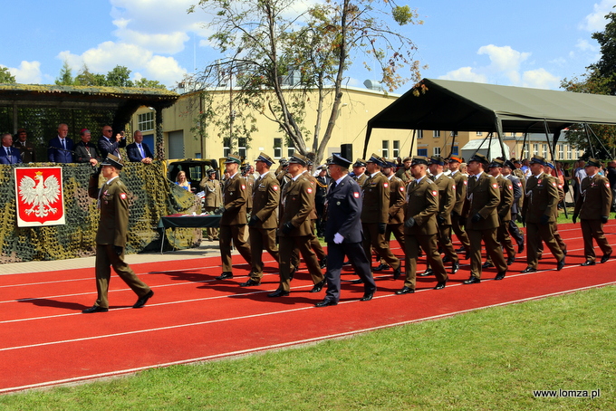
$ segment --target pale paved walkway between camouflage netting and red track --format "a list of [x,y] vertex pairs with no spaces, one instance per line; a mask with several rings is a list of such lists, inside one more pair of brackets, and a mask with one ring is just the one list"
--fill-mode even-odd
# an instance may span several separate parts
[[[236,253],[234,251],[234,253]],[[175,260],[188,260],[194,258],[211,257],[219,254],[217,241],[203,241],[197,248],[168,251],[165,253],[139,253],[129,254],[125,261],[130,264],[166,262]],[[0,265],[0,275],[19,274],[24,272],[50,272],[70,270],[75,268],[94,267],[94,256],[72,258],[69,260],[33,261],[25,263],[7,263]]]

